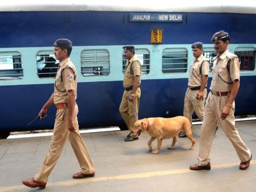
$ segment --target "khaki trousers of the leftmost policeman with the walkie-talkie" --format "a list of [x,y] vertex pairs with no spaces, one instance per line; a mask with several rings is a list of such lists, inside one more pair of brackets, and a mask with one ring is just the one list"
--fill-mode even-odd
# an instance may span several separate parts
[[62,153],[65,146],[65,141],[69,138],[71,146],[76,154],[79,162],[81,172],[89,174],[94,172],[93,163],[91,162],[90,155],[88,154],[87,147],[85,146],[84,140],[80,136],[79,126],[77,121],[78,107],[74,107],[74,132],[68,130],[68,109],[64,108],[57,110],[55,124],[54,124],[54,135],[52,136],[51,144],[49,147],[48,155],[44,158],[43,165],[40,171],[37,172],[34,179],[37,182],[47,182],[49,174],[54,168],[57,160]]

